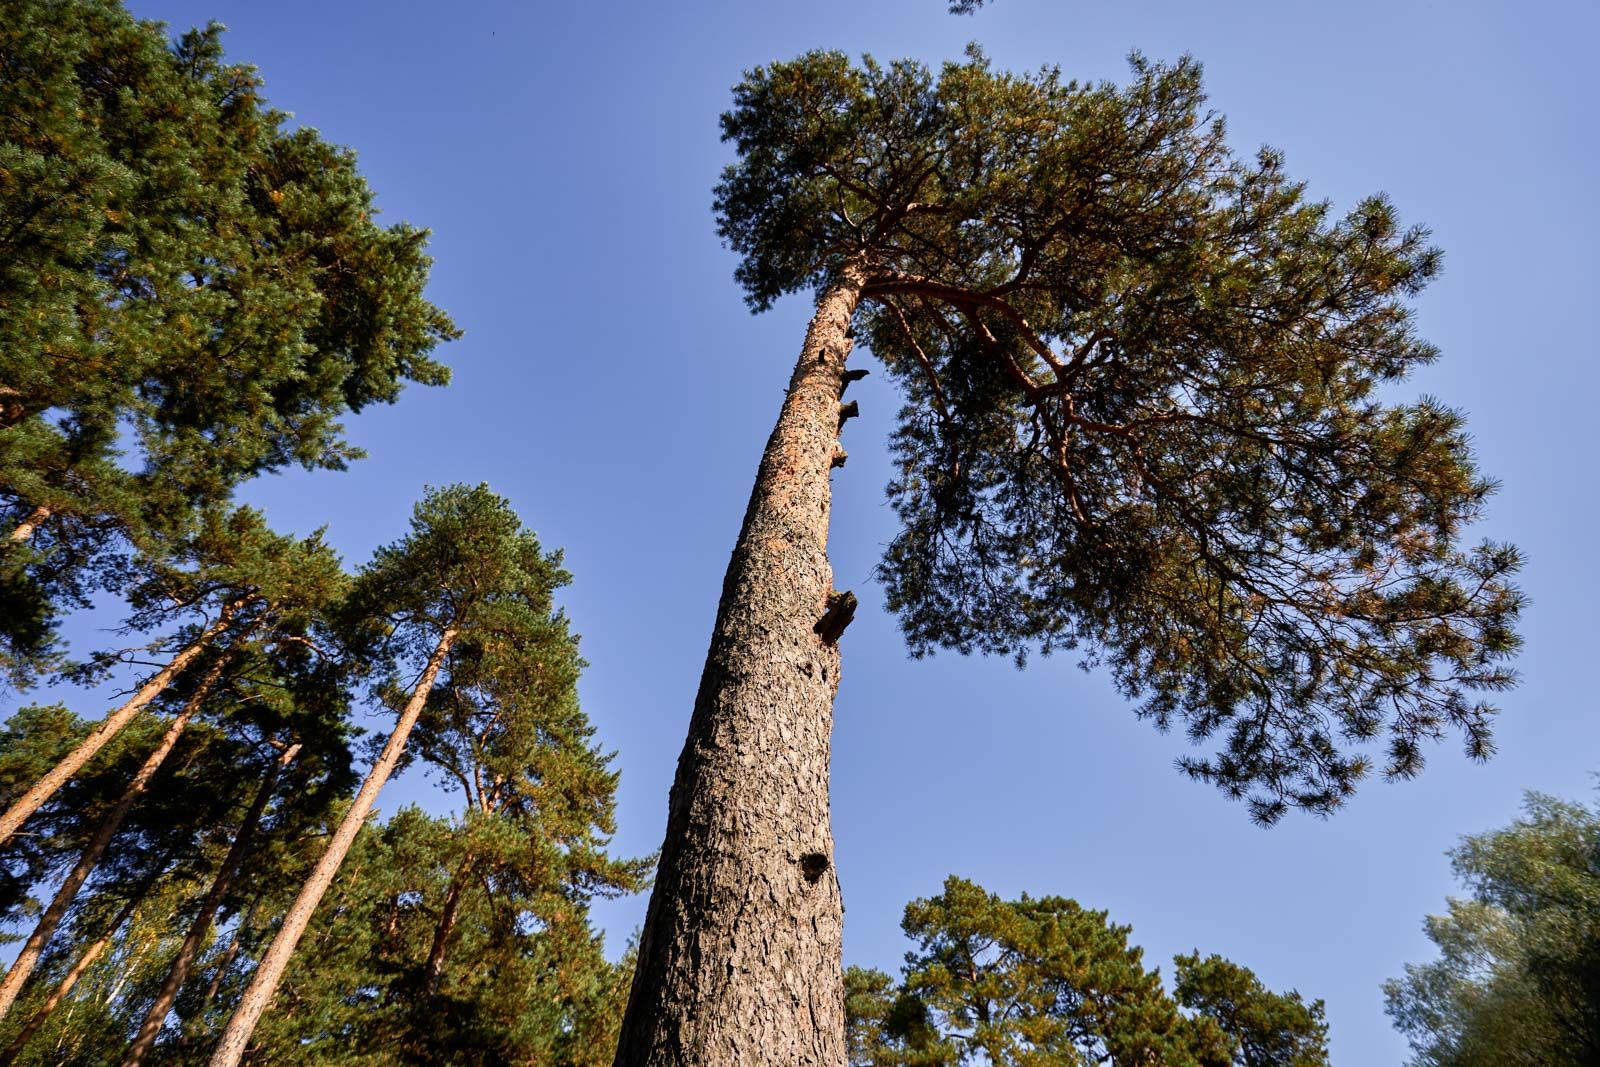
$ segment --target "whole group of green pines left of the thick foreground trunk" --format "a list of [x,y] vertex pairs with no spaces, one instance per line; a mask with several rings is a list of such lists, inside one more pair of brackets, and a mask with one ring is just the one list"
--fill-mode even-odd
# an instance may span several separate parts
[[[0,736],[0,1062],[608,1062],[587,902],[648,862],[606,848],[560,553],[483,486],[357,568],[237,499],[358,458],[341,421],[458,331],[426,234],[219,35],[0,18],[0,667],[78,685]],[[69,649],[94,600],[115,646]],[[406,765],[448,816],[368,817]]]

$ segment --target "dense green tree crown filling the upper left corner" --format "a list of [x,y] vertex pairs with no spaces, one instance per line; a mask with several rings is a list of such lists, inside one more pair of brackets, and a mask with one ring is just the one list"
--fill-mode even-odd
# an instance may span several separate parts
[[[0,665],[118,544],[240,480],[358,456],[339,418],[442,384],[426,234],[379,227],[352,152],[291,130],[211,24],[112,0],[0,18]],[[131,448],[131,453],[125,450]]]

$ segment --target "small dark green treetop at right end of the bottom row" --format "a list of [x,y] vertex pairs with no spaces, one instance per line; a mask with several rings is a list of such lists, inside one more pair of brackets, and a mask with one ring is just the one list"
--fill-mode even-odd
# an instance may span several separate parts
[[1250,968],[1198,952],[1174,957],[1173,998],[1218,1024],[1235,1067],[1326,1067],[1328,1022],[1320,1000],[1274,993]]

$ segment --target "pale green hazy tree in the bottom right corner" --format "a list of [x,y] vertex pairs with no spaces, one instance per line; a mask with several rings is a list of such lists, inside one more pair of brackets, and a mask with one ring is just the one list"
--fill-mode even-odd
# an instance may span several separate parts
[[1451,864],[1472,894],[1427,918],[1438,958],[1384,985],[1411,1062],[1600,1062],[1600,811],[1528,793]]

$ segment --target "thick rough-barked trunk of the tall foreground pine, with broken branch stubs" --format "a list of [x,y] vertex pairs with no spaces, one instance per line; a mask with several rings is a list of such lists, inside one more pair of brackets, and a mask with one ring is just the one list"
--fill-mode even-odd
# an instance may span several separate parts
[[[829,470],[862,274],[818,301],[723,579],[618,1067],[843,1067]],[[826,629],[826,627],[824,627]],[[837,637],[837,635],[834,635]]]

